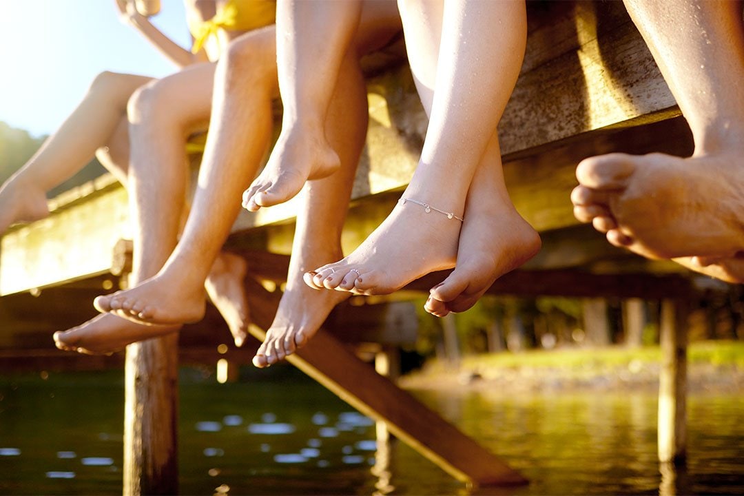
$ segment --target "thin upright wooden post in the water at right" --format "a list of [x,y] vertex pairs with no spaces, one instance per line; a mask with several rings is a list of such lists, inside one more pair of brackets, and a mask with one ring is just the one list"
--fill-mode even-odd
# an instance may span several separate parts
[[682,463],[687,441],[687,302],[661,303],[658,458]]

